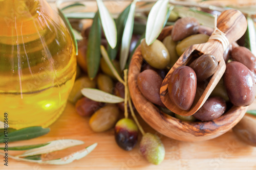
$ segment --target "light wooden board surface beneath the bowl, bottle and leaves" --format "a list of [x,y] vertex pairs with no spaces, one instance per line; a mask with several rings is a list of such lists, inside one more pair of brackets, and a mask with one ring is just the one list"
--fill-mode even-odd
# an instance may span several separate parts
[[[250,109],[256,109],[256,103]],[[139,116],[138,116],[139,117]],[[45,159],[54,159],[69,155],[95,142],[96,149],[88,156],[75,160],[67,165],[45,165],[16,161],[9,158],[8,167],[4,166],[3,157],[0,158],[0,169],[185,169],[185,170],[216,170],[243,169],[256,170],[256,147],[250,147],[240,141],[231,131],[226,134],[202,142],[181,142],[162,136],[147,126],[139,117],[146,132],[159,135],[165,146],[165,159],[160,165],[148,163],[138,152],[139,145],[130,151],[123,151],[114,139],[114,130],[95,133],[89,127],[89,118],[79,116],[70,103],[59,119],[50,126],[49,134],[27,141],[9,143],[14,145],[36,144],[57,139],[78,139],[86,144],[57,151],[47,155]],[[141,138],[141,135],[140,135]],[[0,145],[3,147],[3,144]],[[17,155],[19,152],[9,152]]]

